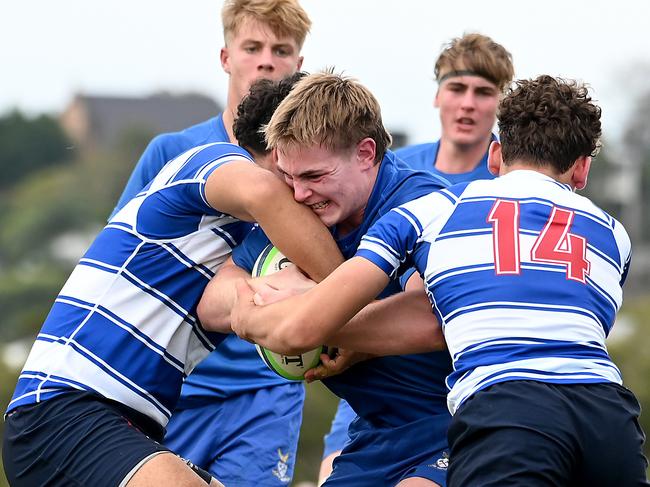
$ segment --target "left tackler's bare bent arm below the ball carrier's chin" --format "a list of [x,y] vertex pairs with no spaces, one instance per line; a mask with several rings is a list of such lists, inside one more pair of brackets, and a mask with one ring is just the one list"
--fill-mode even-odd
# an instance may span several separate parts
[[211,206],[245,221],[256,221],[273,244],[315,281],[341,262],[329,230],[273,173],[247,162],[216,169],[206,183]]

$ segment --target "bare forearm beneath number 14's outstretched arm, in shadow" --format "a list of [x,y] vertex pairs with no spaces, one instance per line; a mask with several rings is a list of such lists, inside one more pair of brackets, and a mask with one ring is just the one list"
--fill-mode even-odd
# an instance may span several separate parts
[[431,303],[422,290],[406,291],[374,301],[334,333],[327,344],[376,355],[446,348]]

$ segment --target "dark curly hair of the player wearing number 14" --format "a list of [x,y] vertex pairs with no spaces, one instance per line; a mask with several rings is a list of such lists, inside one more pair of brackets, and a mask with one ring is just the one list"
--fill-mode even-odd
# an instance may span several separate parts
[[587,86],[542,75],[518,80],[497,113],[504,164],[551,166],[560,174],[600,149],[600,108]]

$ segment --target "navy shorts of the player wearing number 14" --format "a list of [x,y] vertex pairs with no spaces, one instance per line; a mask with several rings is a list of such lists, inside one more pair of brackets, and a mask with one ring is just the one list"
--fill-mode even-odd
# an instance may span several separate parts
[[449,426],[449,486],[648,485],[639,403],[613,383],[501,382]]

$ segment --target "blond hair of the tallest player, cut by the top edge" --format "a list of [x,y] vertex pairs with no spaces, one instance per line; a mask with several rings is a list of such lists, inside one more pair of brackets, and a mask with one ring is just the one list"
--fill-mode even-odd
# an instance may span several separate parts
[[291,37],[300,49],[311,28],[311,20],[297,0],[226,0],[221,10],[226,44],[246,19],[268,25],[277,37]]

